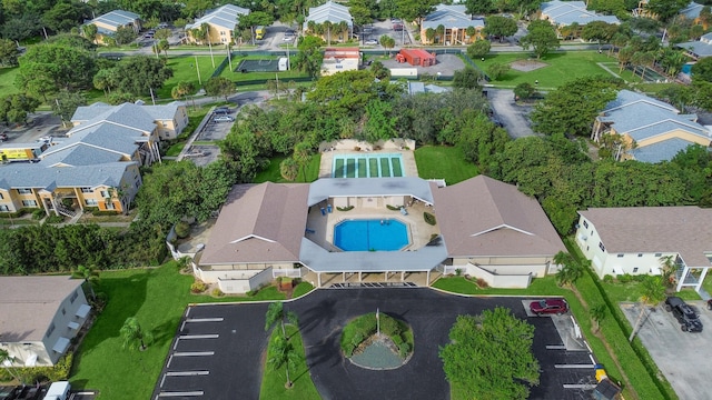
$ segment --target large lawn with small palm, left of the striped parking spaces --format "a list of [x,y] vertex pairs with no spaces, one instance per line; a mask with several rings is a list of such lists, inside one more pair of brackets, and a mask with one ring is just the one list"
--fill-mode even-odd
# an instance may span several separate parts
[[[249,298],[195,296],[189,292],[192,276],[178,271],[170,261],[155,269],[101,272],[97,291],[106,292],[109,302],[75,353],[72,387],[97,389],[100,399],[149,399],[189,303],[285,299],[274,287]],[[128,317],[154,334],[146,351],[121,347],[119,329]]]

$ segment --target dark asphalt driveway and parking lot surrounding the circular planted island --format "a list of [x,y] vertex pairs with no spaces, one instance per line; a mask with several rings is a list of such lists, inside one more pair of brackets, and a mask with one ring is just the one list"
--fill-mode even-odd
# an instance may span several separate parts
[[[411,399],[449,398],[438,348],[449,341],[448,332],[458,314],[496,306],[511,308],[535,327],[534,354],[542,374],[530,399],[590,397],[587,390],[595,381],[593,357],[587,348],[567,348],[554,318],[527,317],[531,301],[463,298],[427,288],[319,289],[286,303],[285,309],[299,316],[307,364],[324,399],[402,398],[406,393]],[[339,350],[340,329],[376,308],[407,321],[414,331],[415,352],[396,370],[358,368],[345,362]],[[266,310],[266,303],[189,307],[152,398],[258,399],[268,339]]]

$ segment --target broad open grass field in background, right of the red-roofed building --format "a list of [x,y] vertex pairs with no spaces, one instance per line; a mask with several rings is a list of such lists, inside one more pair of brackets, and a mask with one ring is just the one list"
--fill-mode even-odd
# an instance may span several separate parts
[[511,69],[504,77],[492,81],[495,87],[508,87],[528,82],[534,84],[538,80],[538,87],[543,89],[557,88],[566,81],[590,77],[590,76],[610,76],[607,71],[597,66],[597,62],[605,63],[614,73],[620,74],[629,82],[640,82],[639,77],[634,77],[630,71],[619,73],[617,61],[613,57],[607,57],[605,52],[600,54],[597,51],[566,51],[555,52],[543,57],[541,60],[532,58],[531,53],[496,53],[485,58],[485,61],[475,60],[475,64],[483,71],[493,63],[510,63],[517,60],[528,62],[543,62],[546,67],[533,71],[518,71]]

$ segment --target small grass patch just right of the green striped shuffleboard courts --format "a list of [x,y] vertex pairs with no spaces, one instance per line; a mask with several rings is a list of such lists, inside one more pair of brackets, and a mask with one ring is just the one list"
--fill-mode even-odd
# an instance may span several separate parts
[[415,163],[423,179],[445,179],[455,184],[479,174],[477,167],[465,161],[457,147],[424,146],[415,150]]

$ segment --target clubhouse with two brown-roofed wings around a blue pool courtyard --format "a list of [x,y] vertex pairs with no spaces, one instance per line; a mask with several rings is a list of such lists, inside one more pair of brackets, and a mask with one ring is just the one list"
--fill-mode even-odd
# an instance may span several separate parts
[[236,186],[192,268],[226,293],[277,277],[316,287],[428,286],[451,273],[525,288],[557,271],[558,251],[564,244],[536,200],[485,176],[449,187],[415,177],[323,178]]

